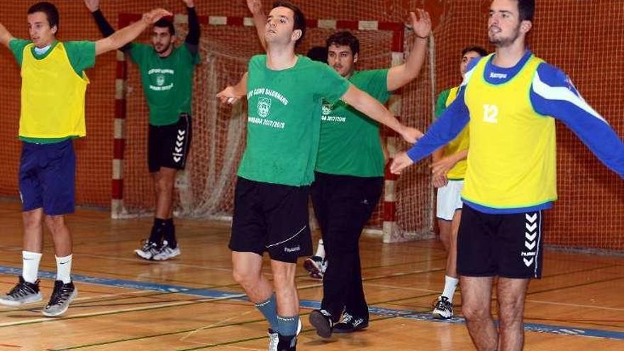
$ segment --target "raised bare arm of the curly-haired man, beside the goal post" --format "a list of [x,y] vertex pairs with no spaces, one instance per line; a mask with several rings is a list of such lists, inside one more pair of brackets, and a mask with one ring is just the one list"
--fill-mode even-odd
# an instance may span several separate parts
[[412,50],[403,65],[392,67],[388,71],[388,91],[399,89],[418,77],[425,62],[427,40],[431,33],[431,19],[429,13],[422,9],[418,9],[418,17],[413,12],[410,12],[410,17],[415,34]]

